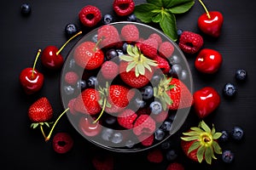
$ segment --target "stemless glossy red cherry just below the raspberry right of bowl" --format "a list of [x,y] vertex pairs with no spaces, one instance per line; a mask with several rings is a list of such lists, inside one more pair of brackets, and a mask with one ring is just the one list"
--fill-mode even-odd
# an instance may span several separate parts
[[195,68],[203,73],[212,74],[218,71],[222,60],[222,55],[218,51],[204,48],[195,59]]

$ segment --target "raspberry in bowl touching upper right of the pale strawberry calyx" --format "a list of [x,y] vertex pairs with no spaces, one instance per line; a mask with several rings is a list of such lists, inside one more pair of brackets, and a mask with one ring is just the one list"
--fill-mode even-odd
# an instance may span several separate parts
[[140,49],[142,53],[150,58],[154,59],[157,54],[158,43],[154,38],[148,38],[142,42]]

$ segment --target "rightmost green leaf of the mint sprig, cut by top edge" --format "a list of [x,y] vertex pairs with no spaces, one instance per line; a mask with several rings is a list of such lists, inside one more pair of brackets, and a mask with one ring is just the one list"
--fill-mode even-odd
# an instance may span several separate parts
[[186,13],[195,4],[195,1],[191,1],[191,0],[174,0],[174,1],[171,1],[171,3],[175,1],[178,1],[179,4],[177,6],[172,6],[171,8],[169,8],[170,12],[172,12],[173,14]]

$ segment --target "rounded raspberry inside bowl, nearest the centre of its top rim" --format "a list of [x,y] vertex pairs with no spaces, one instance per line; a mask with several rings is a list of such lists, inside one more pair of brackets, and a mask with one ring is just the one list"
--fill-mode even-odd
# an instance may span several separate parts
[[121,30],[121,37],[128,43],[136,42],[139,39],[137,26],[125,25]]

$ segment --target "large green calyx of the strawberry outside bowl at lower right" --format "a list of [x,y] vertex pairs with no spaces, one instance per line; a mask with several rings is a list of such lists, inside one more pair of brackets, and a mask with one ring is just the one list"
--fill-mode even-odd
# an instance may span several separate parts
[[222,153],[217,142],[221,134],[216,133],[213,124],[211,129],[204,121],[201,121],[198,127],[191,127],[189,132],[183,133],[184,137],[181,139],[184,141],[194,141],[189,147],[188,154],[193,150],[197,150],[196,156],[198,161],[201,162],[205,159],[208,164],[211,164],[212,158],[217,159],[214,153]]

